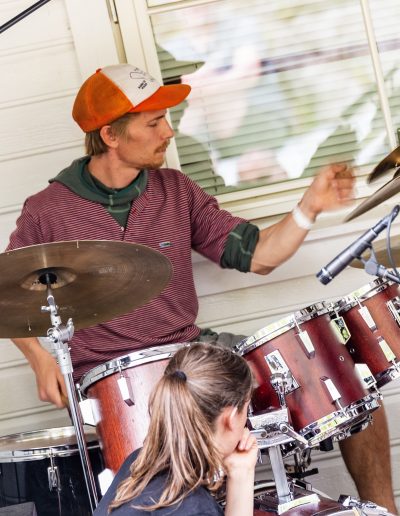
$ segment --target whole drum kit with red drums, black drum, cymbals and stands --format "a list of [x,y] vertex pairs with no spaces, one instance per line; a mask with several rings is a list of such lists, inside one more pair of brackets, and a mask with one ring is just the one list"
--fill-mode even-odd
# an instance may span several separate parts
[[[398,150],[382,167],[396,167],[397,159]],[[366,209],[400,190],[396,175],[389,184],[363,203]],[[378,242],[371,254],[392,267],[400,260],[400,240],[392,251]],[[351,265],[360,266],[356,260]],[[47,335],[65,379],[73,423],[0,437],[0,506],[33,500],[40,515],[91,514],[104,472],[112,477],[143,443],[150,392],[169,358],[190,343],[114,358],[74,385],[69,342],[75,328],[111,320],[156,297],[170,280],[171,265],[138,244],[68,241],[0,254],[0,271],[5,314],[0,337]],[[255,486],[254,514],[386,513],[352,497],[333,501],[303,479],[311,451],[332,449],[335,441],[366,428],[380,406],[380,388],[400,376],[399,283],[375,278],[338,301],[318,302],[271,323],[235,346],[257,385],[248,427],[260,460],[268,454],[274,476]],[[286,458],[295,461],[291,472]],[[223,498],[220,502],[223,506]]]

